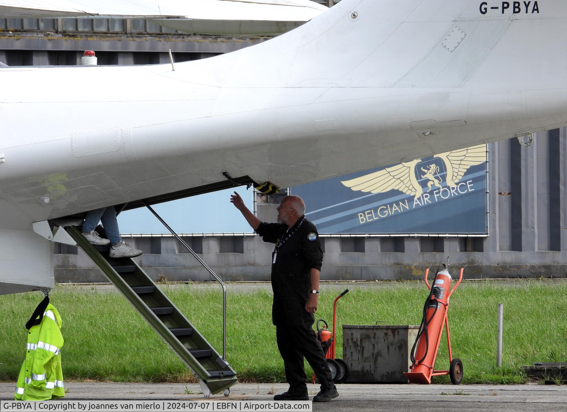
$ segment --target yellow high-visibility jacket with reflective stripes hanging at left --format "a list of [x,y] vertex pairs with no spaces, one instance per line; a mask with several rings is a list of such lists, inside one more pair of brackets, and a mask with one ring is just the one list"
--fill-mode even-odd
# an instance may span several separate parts
[[14,399],[45,401],[65,396],[61,370],[61,316],[48,304],[39,325],[28,331],[26,360],[20,369]]

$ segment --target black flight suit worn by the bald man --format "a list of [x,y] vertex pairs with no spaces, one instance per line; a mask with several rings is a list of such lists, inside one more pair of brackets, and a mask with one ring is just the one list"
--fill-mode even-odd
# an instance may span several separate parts
[[323,264],[317,229],[302,216],[289,231],[286,224],[260,223],[256,233],[265,242],[276,244],[272,252],[272,322],[276,325],[287,383],[298,392],[307,390],[305,358],[315,371],[321,390],[329,389],[333,386],[331,371],[312,329],[315,318],[305,310],[312,290],[311,269],[321,270]]

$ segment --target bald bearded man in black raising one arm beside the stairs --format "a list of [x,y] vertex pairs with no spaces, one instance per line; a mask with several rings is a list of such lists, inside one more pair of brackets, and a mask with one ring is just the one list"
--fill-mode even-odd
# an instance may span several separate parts
[[319,275],[323,252],[315,225],[305,218],[305,203],[299,196],[286,196],[278,206],[278,223],[261,222],[244,205],[238,193],[230,201],[265,242],[275,243],[272,252],[272,322],[289,390],[276,401],[306,401],[307,376],[303,358],[315,371],[321,390],[314,402],[338,396],[327,359],[313,331],[319,303]]

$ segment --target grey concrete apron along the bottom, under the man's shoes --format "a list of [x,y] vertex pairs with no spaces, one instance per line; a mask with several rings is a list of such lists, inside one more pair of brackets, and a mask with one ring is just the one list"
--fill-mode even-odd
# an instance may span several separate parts
[[[12,400],[15,383],[0,383],[0,399]],[[211,395],[208,400],[198,384],[66,383],[67,400],[271,400],[285,392],[287,384],[237,384],[229,397]],[[556,385],[410,385],[342,384],[340,396],[314,403],[313,410],[459,410],[459,411],[564,411],[567,386]],[[318,385],[308,385],[310,398]]]

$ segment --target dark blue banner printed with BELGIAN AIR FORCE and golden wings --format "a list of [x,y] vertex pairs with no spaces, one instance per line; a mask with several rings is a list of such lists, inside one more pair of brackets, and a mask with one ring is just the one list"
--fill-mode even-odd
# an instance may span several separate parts
[[319,233],[488,235],[486,145],[291,188]]

